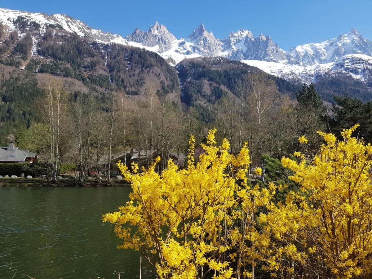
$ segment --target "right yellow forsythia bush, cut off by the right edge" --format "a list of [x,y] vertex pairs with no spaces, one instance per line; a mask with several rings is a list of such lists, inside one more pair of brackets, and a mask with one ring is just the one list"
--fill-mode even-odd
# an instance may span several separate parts
[[282,158],[300,191],[262,216],[276,241],[301,248],[299,265],[312,276],[372,277],[372,146],[351,136],[358,126],[343,141],[318,131],[325,144],[310,163]]

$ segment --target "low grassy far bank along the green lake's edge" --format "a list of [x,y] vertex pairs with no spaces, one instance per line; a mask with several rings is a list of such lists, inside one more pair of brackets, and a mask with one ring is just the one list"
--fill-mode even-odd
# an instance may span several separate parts
[[0,187],[16,186],[16,187],[130,187],[131,185],[124,179],[115,179],[112,185],[107,185],[106,181],[96,182],[93,179],[87,180],[86,185],[78,186],[75,179],[59,179],[56,184],[48,185],[46,179],[43,178],[0,178]]

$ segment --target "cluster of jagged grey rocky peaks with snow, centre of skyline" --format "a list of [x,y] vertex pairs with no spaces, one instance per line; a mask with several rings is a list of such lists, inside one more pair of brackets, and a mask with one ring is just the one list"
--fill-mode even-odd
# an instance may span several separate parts
[[[176,64],[184,58],[222,56],[232,60],[255,59],[263,61],[281,61],[286,59],[286,52],[274,44],[270,36],[260,34],[254,37],[252,32],[245,29],[233,33],[227,39],[215,38],[212,31],[208,32],[203,23],[186,39],[176,39],[165,26],[158,23],[145,32],[138,28],[125,39],[140,43],[147,47],[158,46],[159,54]],[[158,31],[158,30],[161,31]]]

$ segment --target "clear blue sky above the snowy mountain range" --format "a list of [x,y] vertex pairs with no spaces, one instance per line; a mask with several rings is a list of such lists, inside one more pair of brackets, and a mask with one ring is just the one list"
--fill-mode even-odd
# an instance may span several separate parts
[[65,13],[93,28],[132,33],[156,20],[177,38],[204,23],[218,38],[240,28],[270,35],[279,47],[321,42],[355,28],[372,39],[371,0],[0,0],[0,7],[29,12]]

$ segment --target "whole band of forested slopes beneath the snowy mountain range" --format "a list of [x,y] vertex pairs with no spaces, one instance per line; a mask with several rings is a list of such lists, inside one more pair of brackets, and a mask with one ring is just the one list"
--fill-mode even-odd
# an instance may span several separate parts
[[[256,67],[221,57],[187,59],[176,67],[160,55],[141,48],[119,44],[99,44],[57,25],[41,32],[38,23],[22,16],[14,20],[17,31],[7,32],[0,23],[0,138],[28,128],[39,119],[39,96],[49,81],[62,81],[71,97],[93,94],[103,102],[108,91],[123,92],[135,99],[153,90],[160,98],[195,108],[205,123],[217,119],[219,100],[238,99],[237,84]],[[281,96],[295,100],[301,84],[270,74]],[[371,100],[371,89],[350,76],[323,76],[315,89],[333,103],[333,94]],[[275,93],[276,94],[276,93]],[[274,95],[275,95],[274,94]]]

